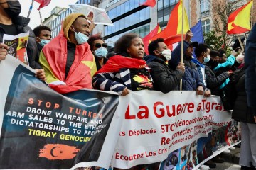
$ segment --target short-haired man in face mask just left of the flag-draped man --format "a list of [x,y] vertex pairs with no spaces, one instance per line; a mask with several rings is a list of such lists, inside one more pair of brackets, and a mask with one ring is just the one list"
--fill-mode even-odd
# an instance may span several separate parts
[[48,44],[48,42],[51,40],[51,30],[48,26],[37,26],[33,29],[33,33],[36,36],[36,45],[38,48],[36,62],[38,62],[43,46]]

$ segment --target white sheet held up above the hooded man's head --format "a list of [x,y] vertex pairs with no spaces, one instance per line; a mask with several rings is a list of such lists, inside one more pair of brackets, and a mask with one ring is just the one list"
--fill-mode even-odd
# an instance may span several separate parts
[[103,24],[107,26],[113,26],[110,17],[107,16],[105,9],[97,8],[87,4],[70,4],[69,5],[73,13],[82,13],[86,17],[92,17],[92,21],[95,24]]

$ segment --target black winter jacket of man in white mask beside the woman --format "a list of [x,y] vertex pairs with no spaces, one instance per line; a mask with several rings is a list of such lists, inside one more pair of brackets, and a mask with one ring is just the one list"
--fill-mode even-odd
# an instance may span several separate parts
[[183,72],[180,69],[172,71],[164,60],[153,55],[144,57],[144,60],[146,60],[146,64],[150,68],[154,90],[163,93],[178,90],[178,84],[183,76]]

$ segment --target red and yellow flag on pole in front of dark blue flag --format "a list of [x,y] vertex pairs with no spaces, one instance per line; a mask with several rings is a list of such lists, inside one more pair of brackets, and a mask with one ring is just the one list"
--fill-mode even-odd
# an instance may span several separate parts
[[[185,8],[184,8],[183,17],[184,17],[183,33],[186,33],[189,30],[189,23],[188,23],[188,16],[186,14]],[[174,10],[171,11],[170,18],[166,28],[162,30],[161,33],[154,36],[152,40],[156,40],[157,38],[166,39],[172,36],[181,35],[181,31],[182,31],[181,28],[182,28],[182,1],[179,1],[174,7]],[[178,41],[181,41],[181,39]],[[169,44],[166,44],[166,45],[169,45]]]

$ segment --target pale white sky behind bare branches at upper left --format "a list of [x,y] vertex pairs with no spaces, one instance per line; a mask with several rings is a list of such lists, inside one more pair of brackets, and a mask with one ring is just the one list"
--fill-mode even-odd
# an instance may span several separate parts
[[[41,16],[42,16],[42,20],[44,21],[44,18],[48,18],[48,16],[50,16],[50,11],[55,8],[55,6],[59,6],[59,7],[65,7],[68,8],[68,4],[74,4],[75,2],[77,2],[78,0],[51,0],[50,4],[48,6],[45,6],[43,8],[41,8]],[[32,0],[19,0],[20,4],[21,4],[21,16],[28,16],[28,9],[31,6],[31,2]],[[39,4],[34,1],[33,3],[33,8],[31,11],[31,14],[29,16],[29,18],[31,18],[30,23],[28,24],[28,26],[30,26],[32,29],[35,28],[36,26],[40,25],[40,16],[38,13],[38,6]]]

